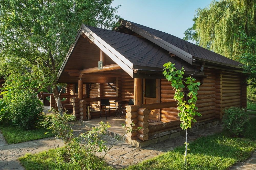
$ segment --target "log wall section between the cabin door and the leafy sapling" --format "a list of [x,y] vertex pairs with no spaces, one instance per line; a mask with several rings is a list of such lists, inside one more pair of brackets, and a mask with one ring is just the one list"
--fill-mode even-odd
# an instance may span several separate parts
[[[170,82],[166,79],[161,79],[161,102],[175,101],[173,99],[175,90],[173,90]],[[174,108],[164,108],[160,109],[161,120],[162,122],[170,122],[174,120],[179,120],[178,110]]]

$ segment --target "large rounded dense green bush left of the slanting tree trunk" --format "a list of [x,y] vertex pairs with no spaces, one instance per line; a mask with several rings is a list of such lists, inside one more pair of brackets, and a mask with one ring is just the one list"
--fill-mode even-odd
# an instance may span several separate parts
[[7,112],[14,126],[21,126],[28,130],[35,128],[42,106],[34,95],[34,91],[24,90],[14,93],[7,101]]

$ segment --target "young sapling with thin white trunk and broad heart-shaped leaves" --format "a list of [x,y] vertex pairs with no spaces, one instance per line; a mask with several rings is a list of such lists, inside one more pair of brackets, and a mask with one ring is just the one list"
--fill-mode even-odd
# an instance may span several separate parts
[[[163,70],[163,74],[165,78],[171,82],[171,86],[175,89],[173,99],[177,101],[177,110],[179,110],[178,116],[180,117],[180,127],[183,130],[186,130],[186,149],[184,155],[184,161],[186,163],[187,151],[188,151],[188,132],[187,129],[191,128],[192,123],[196,122],[195,116],[201,116],[200,113],[196,112],[198,108],[196,107],[197,100],[197,90],[199,90],[198,86],[200,82],[195,82],[196,79],[189,76],[183,80],[184,67],[181,70],[177,70],[174,67],[175,64],[171,62],[167,62],[163,65],[165,67]],[[185,85],[188,93],[185,96]],[[184,97],[186,100],[184,100]]]

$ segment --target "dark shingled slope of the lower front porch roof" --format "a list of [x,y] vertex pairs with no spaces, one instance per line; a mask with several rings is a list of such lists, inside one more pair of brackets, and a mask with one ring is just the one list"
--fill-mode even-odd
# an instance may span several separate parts
[[195,71],[195,68],[178,57],[170,57],[168,51],[145,38],[124,34],[116,31],[87,26],[103,41],[112,46],[126,59],[136,66],[163,68],[163,64],[171,61],[180,69],[184,66],[186,71]]

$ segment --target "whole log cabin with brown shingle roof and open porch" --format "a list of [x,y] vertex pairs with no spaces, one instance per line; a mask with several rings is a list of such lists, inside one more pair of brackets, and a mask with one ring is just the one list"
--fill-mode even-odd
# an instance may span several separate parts
[[143,141],[168,139],[170,131],[180,129],[174,90],[162,75],[168,61],[201,82],[197,124],[221,123],[225,108],[246,107],[241,63],[134,22],[119,25],[106,30],[82,24],[61,66],[57,81],[68,84],[71,97],[78,95],[70,101],[78,120],[88,120],[89,111],[91,119],[100,117],[100,99],[134,99],[126,106],[126,127],[134,122],[142,129],[125,141],[142,147]]

